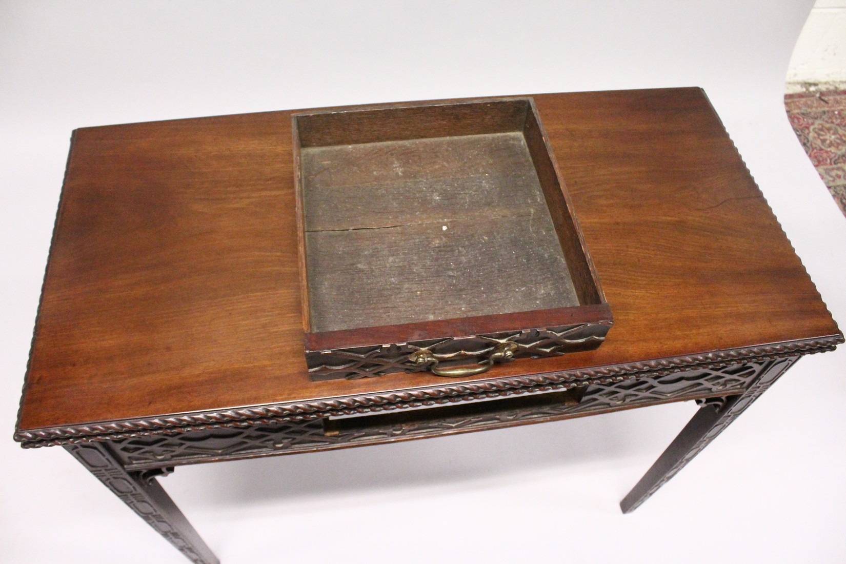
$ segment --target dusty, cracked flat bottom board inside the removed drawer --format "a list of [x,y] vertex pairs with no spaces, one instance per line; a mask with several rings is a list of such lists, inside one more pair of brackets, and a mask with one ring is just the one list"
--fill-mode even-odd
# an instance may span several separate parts
[[301,158],[311,331],[579,304],[523,134]]

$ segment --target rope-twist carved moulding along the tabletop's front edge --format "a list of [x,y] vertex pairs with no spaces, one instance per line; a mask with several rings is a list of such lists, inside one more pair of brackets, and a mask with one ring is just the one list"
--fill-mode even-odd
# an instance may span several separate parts
[[789,356],[834,350],[843,335],[807,341],[780,342],[754,348],[735,348],[683,357],[615,364],[566,372],[417,388],[374,395],[340,397],[331,400],[281,403],[253,408],[187,413],[153,419],[125,419],[97,424],[65,425],[38,430],[19,430],[14,440],[25,448],[66,445],[85,441],[113,441],[144,435],[173,435],[218,427],[246,427],[284,421],[318,419],[354,413],[433,406],[488,397],[549,392],[588,384],[607,384],[644,375],[667,375],[682,370],[720,368],[740,362],[761,362]]

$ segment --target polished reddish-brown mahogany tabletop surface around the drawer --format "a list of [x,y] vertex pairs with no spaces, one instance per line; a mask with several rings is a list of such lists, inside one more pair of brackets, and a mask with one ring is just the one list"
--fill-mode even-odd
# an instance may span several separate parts
[[[615,323],[477,380],[838,333],[701,90],[534,99]],[[290,118],[75,132],[19,430],[444,382],[309,381]]]

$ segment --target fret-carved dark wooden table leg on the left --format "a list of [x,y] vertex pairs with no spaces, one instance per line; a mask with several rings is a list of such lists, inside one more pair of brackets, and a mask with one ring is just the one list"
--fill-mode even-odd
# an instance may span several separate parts
[[153,475],[125,471],[102,443],[66,445],[65,448],[190,561],[219,564],[217,556],[209,550]]

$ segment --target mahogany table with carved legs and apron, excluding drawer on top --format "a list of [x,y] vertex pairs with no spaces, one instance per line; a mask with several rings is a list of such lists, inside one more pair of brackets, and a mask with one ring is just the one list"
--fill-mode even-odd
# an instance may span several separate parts
[[78,129],[15,440],[64,446],[210,563],[157,483],[175,466],[700,402],[632,511],[843,333],[702,90],[534,99],[613,310],[600,348],[310,381],[290,112]]

